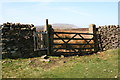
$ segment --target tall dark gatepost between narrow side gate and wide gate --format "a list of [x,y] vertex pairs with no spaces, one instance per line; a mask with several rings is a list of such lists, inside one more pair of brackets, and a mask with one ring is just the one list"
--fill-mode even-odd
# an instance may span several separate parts
[[47,55],[51,55],[53,52],[53,33],[54,30],[52,28],[52,25],[48,24],[48,19],[46,19],[46,25],[44,27],[44,32],[46,32],[46,38],[45,45],[47,46]]

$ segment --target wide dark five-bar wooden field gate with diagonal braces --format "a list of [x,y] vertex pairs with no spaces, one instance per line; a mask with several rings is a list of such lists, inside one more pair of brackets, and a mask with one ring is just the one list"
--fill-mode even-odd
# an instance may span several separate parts
[[97,46],[95,44],[95,37],[96,35],[92,33],[54,32],[53,54],[92,54],[97,50]]

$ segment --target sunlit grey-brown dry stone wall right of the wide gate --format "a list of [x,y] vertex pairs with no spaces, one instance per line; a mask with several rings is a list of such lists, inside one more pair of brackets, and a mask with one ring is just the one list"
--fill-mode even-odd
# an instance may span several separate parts
[[102,50],[119,48],[120,25],[99,26],[97,29],[99,34],[100,48]]

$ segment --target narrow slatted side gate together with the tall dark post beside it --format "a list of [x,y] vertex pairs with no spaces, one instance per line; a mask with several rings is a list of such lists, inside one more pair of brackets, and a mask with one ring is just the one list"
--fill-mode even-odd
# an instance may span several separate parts
[[44,30],[34,32],[34,51],[40,51],[40,53],[42,53],[42,51],[46,51],[47,55],[51,55],[53,32],[52,26],[48,25],[48,20],[46,19]]

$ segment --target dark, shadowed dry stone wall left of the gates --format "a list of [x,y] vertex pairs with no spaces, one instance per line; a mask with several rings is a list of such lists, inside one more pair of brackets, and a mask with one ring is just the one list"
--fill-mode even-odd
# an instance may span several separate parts
[[1,25],[2,58],[28,57],[34,51],[34,25],[4,23]]

